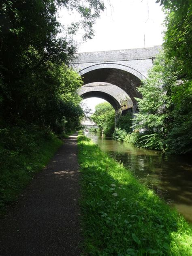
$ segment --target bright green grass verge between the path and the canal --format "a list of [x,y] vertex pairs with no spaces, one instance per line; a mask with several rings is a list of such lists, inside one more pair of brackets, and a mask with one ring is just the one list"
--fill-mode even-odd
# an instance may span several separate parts
[[78,147],[85,255],[192,255],[191,228],[177,211],[87,137]]

